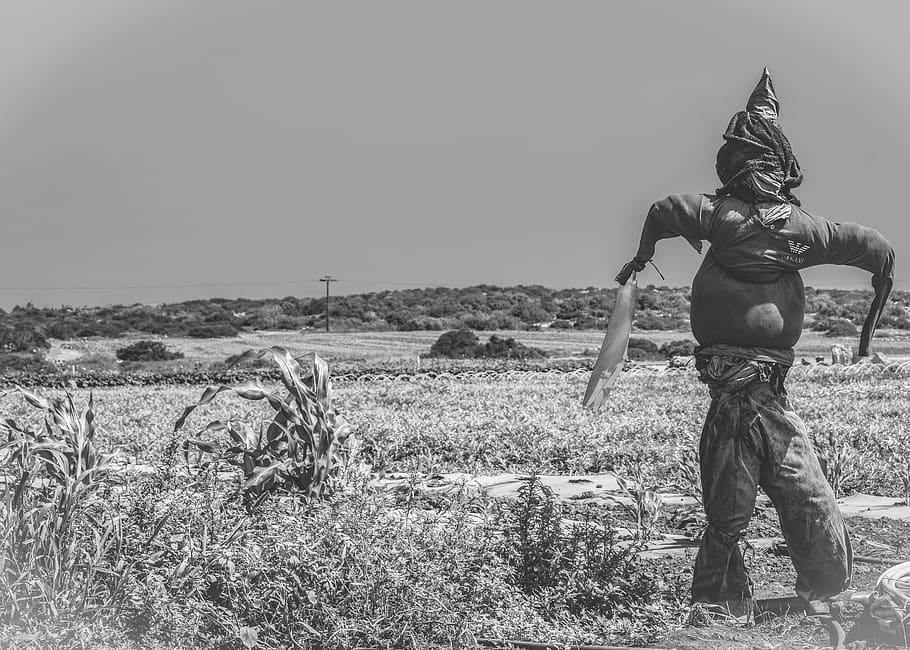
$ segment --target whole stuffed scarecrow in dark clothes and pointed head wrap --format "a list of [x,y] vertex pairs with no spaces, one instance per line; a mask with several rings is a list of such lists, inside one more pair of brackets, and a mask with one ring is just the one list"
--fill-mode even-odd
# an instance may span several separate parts
[[850,582],[846,526],[784,379],[803,329],[800,269],[854,266],[873,274],[875,296],[859,341],[869,343],[891,292],[894,250],[878,232],[833,223],[803,210],[793,189],[803,180],[778,124],[780,105],[767,68],[736,113],[717,153],[723,186],[684,194],[648,212],[638,253],[617,276],[644,269],[658,240],[683,237],[696,251],[711,243],[692,282],[696,368],[711,406],[699,445],[708,525],[692,579],[693,602],[751,612],[752,585],[739,540],[758,486],[780,518],[796,569],[796,592],[810,613]]

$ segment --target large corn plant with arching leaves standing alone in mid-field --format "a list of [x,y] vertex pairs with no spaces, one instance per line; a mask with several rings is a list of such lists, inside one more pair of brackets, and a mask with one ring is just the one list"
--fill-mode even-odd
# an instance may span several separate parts
[[[196,404],[184,409],[174,425],[176,432],[190,413],[225,391],[243,399],[268,402],[275,415],[260,426],[251,427],[232,418],[216,420],[183,445],[187,462],[195,455],[203,463],[226,461],[239,467],[250,507],[281,489],[296,491],[306,498],[323,496],[339,469],[342,447],[350,433],[349,425],[332,405],[328,366],[319,356],[312,356],[306,371],[300,359],[281,347],[248,350],[233,358],[230,365],[269,357],[278,366],[287,395],[270,391],[256,380],[233,387],[209,386]],[[226,432],[230,445],[219,451],[200,437],[207,432]]]

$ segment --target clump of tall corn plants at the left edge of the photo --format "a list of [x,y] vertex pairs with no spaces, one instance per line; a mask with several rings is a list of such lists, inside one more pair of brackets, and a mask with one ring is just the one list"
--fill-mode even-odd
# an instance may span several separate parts
[[93,399],[79,411],[69,393],[57,399],[15,392],[44,413],[44,426],[0,419],[5,617],[27,621],[108,606],[120,591],[124,566],[111,571],[106,560],[117,554],[122,534],[116,519],[102,525],[85,510],[107,480],[107,457],[94,444]]

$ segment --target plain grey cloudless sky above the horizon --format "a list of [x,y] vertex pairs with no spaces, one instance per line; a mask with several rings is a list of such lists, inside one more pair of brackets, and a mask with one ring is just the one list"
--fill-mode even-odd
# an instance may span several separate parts
[[[0,307],[614,286],[767,66],[808,211],[897,249],[910,4],[2,0]],[[642,284],[700,257],[658,245]],[[804,272],[861,288],[858,269]]]

